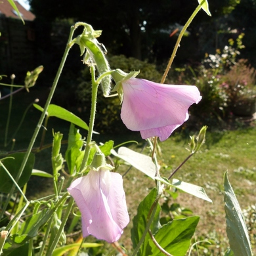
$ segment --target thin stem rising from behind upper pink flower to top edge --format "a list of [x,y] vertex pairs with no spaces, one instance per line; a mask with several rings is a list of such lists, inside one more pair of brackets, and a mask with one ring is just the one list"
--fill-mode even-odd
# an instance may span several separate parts
[[205,1],[202,1],[202,3],[201,3],[200,5],[198,5],[198,7],[196,7],[196,10],[192,13],[192,15],[190,16],[190,18],[188,19],[188,21],[186,22],[186,24],[185,24],[184,27],[182,28],[181,33],[179,34],[179,37],[178,37],[177,42],[176,42],[176,44],[175,44],[175,47],[174,47],[174,49],[173,49],[173,53],[171,54],[171,58],[170,58],[170,60],[169,60],[169,62],[168,62],[168,64],[167,64],[166,70],[165,70],[165,72],[164,72],[164,74],[163,74],[163,77],[162,77],[162,79],[161,79],[161,83],[164,83],[164,82],[165,82],[165,79],[166,79],[166,77],[167,77],[167,74],[168,74],[168,72],[169,72],[169,70],[170,70],[170,68],[171,68],[171,64],[173,64],[173,60],[174,60],[175,55],[176,55],[176,53],[177,53],[178,47],[179,47],[179,45],[180,45],[180,43],[181,43],[182,36],[183,36],[184,33],[186,32],[186,29],[188,28],[188,26],[190,25],[190,23],[192,22],[192,20],[193,20],[194,17],[196,16],[196,14],[200,11],[200,9],[201,9],[201,7],[202,7],[202,5],[203,5],[204,2],[205,2]]

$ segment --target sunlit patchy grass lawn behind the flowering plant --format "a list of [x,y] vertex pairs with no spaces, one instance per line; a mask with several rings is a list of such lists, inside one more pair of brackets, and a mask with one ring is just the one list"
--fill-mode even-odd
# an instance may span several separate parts
[[[188,142],[189,137],[184,138],[179,134],[171,136],[165,142],[160,142],[162,176],[168,177],[171,171],[188,156],[189,152],[186,150]],[[205,188],[207,196],[213,200],[213,203],[209,203],[189,194],[180,193],[178,198],[172,201],[172,203],[180,203],[181,207],[191,209],[194,215],[200,215],[200,223],[194,239],[196,241],[211,240],[213,243],[208,245],[207,249],[204,248],[204,251],[201,249],[200,255],[223,255],[223,251],[228,247],[224,213],[223,175],[225,171],[228,171],[230,183],[242,209],[256,205],[255,156],[255,128],[208,132],[200,152],[192,156],[175,174],[175,179]],[[154,183],[135,169],[132,169],[125,179],[128,180],[124,182],[127,200],[132,214],[135,214],[137,200],[141,200],[142,195],[146,195]],[[254,229],[251,231],[251,242],[256,252],[256,218],[255,215],[253,217],[251,224]]]

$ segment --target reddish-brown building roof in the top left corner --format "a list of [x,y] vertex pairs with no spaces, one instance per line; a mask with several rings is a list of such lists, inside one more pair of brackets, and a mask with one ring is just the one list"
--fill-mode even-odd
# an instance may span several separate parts
[[[35,19],[35,15],[32,12],[26,10],[22,5],[20,5],[20,3],[18,3],[18,1],[14,0],[14,3],[24,20]],[[3,14],[8,18],[20,18],[8,0],[0,0],[0,14]]]

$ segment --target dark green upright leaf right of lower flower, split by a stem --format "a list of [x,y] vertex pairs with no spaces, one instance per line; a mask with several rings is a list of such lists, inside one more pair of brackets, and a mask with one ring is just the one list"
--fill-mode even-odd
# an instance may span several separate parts
[[[154,201],[156,200],[156,196],[156,188],[153,188],[148,196],[146,196],[146,198],[144,198],[144,200],[139,204],[139,207],[137,209],[137,215],[135,215],[135,217],[133,218],[133,228],[131,228],[131,240],[133,242],[133,248],[137,246],[140,238],[142,238],[142,234],[144,233],[146,224],[148,223],[148,213],[150,212],[150,209]],[[150,226],[152,232],[156,232],[156,230],[158,230],[158,228],[160,227],[160,210],[161,207],[158,204],[154,220]],[[150,240],[150,236],[147,233],[143,244],[140,246],[138,255],[147,255],[146,247],[148,245],[148,240]]]

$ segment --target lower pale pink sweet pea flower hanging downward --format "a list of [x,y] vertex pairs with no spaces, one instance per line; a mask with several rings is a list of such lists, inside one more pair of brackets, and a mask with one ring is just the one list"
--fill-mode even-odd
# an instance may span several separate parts
[[123,190],[123,178],[106,167],[91,169],[68,188],[81,211],[83,237],[90,234],[108,243],[116,242],[129,215]]

